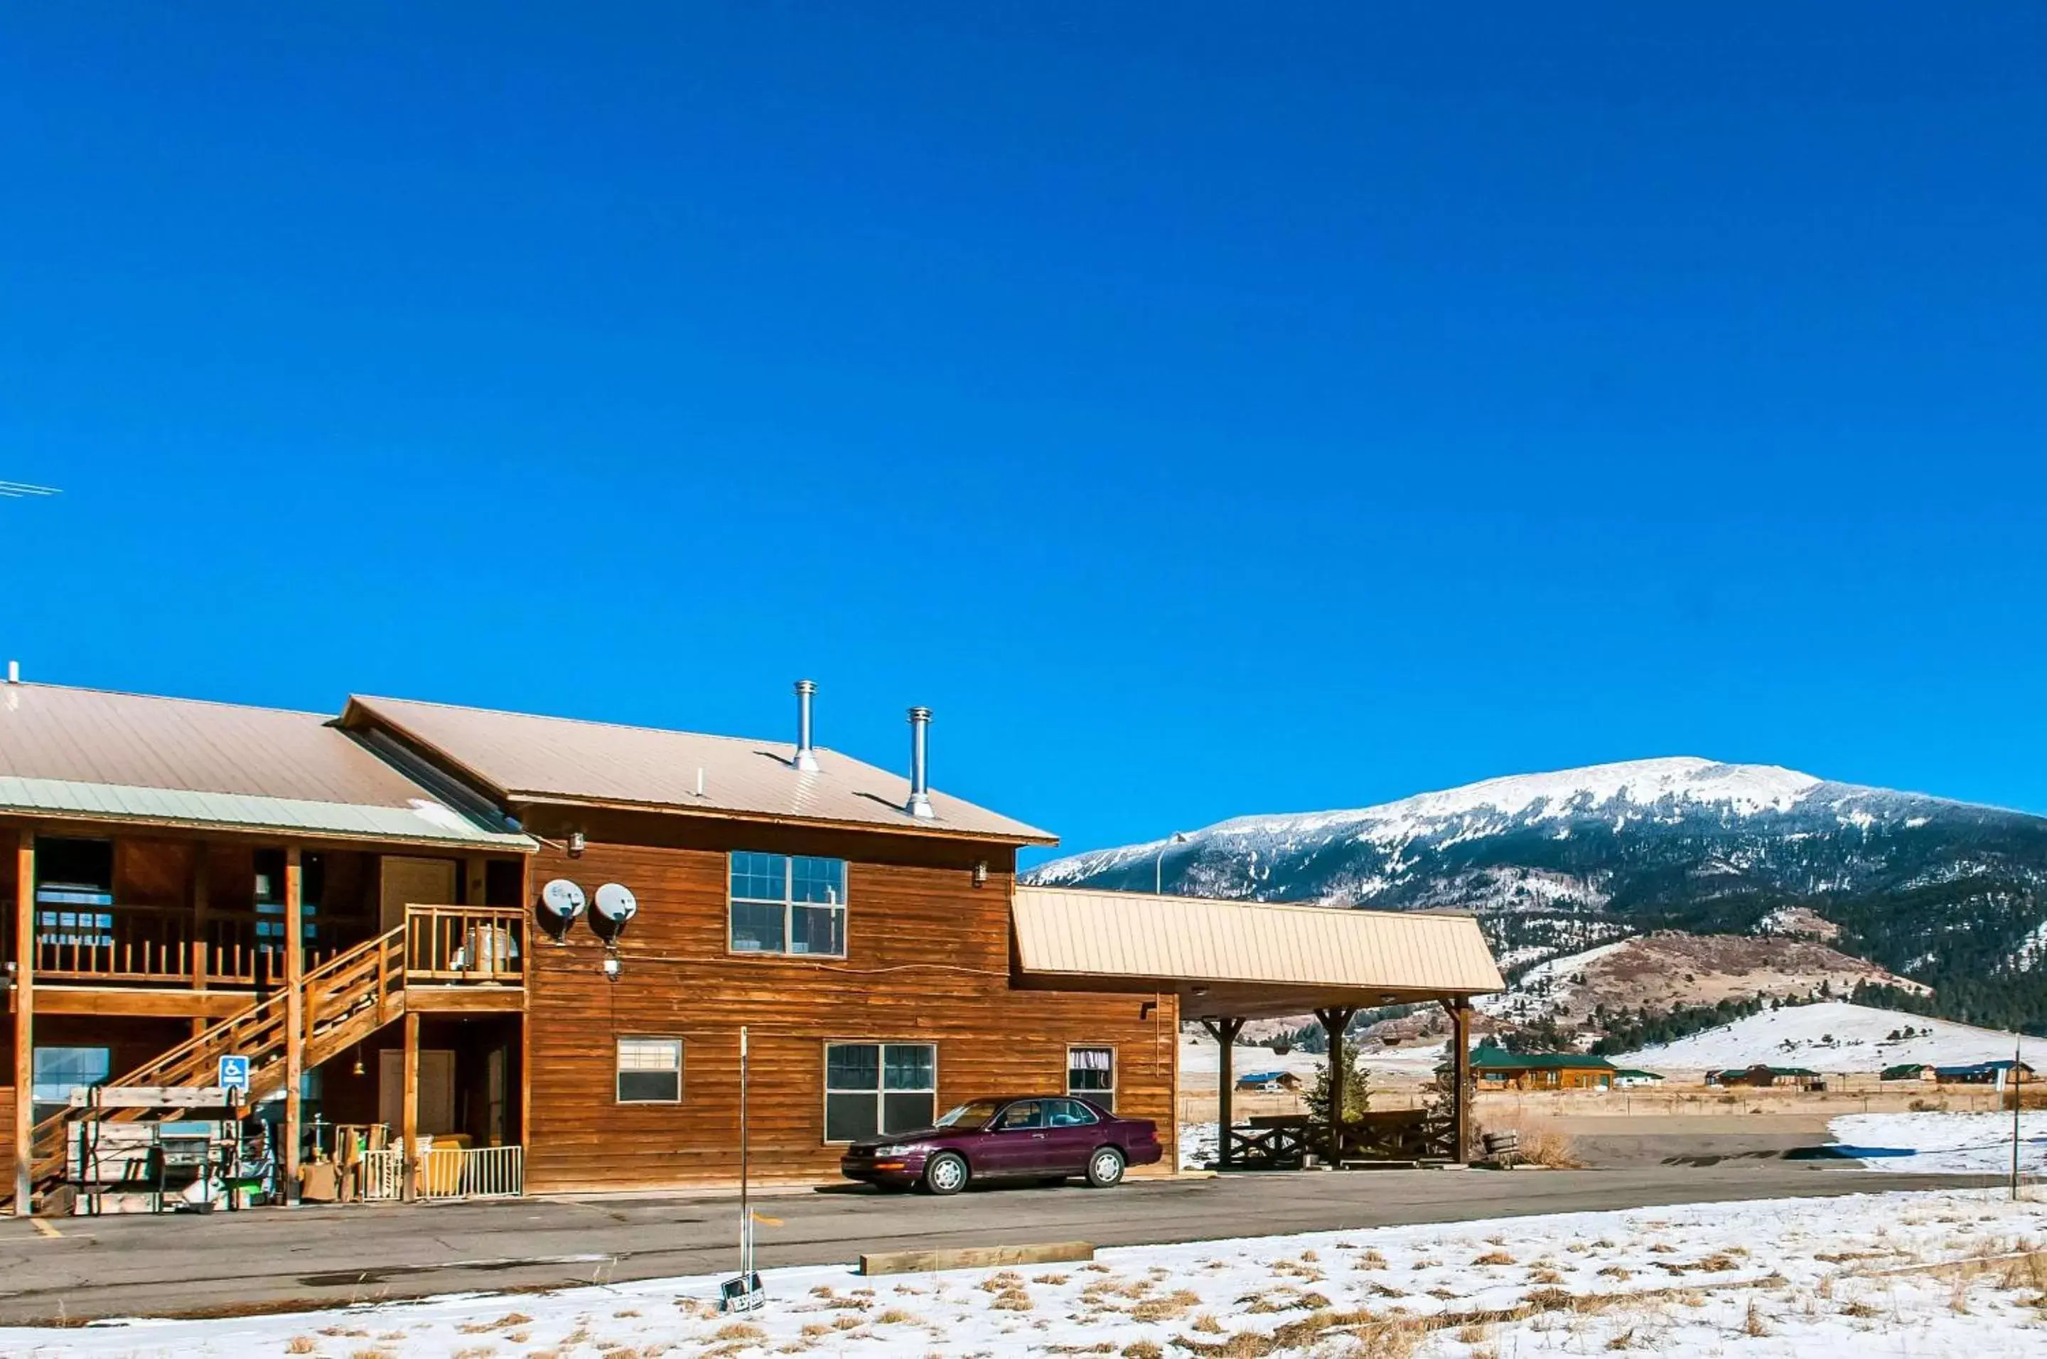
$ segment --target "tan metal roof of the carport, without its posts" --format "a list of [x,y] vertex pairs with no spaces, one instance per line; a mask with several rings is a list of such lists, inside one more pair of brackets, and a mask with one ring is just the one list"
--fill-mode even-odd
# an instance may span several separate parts
[[1468,915],[1052,886],[1019,886],[1011,913],[1021,982],[1177,991],[1189,1017],[1507,989]]

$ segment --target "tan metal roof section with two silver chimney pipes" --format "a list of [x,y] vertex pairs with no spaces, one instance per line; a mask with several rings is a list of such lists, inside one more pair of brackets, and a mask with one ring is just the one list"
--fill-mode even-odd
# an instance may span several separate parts
[[[594,802],[772,821],[1054,843],[1038,827],[931,790],[933,819],[903,810],[909,780],[819,747],[815,774],[786,741],[708,737],[405,698],[350,698],[344,727],[387,727],[506,802]],[[696,794],[696,774],[704,794]]]

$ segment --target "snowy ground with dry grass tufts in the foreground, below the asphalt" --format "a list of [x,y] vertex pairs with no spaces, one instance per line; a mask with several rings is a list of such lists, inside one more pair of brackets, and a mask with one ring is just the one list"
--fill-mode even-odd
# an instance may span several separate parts
[[1091,1265],[862,1279],[768,1271],[209,1322],[0,1330],[0,1353],[330,1355],[1349,1355],[1498,1359],[2047,1353],[2047,1208],[1891,1193],[1507,1218],[1101,1251]]

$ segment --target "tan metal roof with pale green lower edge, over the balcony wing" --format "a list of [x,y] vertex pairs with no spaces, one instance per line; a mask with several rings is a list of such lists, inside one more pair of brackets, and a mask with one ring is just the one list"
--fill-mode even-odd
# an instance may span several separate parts
[[0,684],[0,810],[532,849],[317,712]]

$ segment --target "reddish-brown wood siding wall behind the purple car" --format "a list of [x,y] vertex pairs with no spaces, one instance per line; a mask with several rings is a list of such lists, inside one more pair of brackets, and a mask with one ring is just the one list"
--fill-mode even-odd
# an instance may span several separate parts
[[[569,878],[594,892],[622,882],[641,911],[616,982],[602,978],[604,946],[585,925],[563,946],[532,937],[528,1191],[733,1181],[741,1023],[751,1027],[751,1165],[766,1181],[837,1177],[825,1044],[862,1040],[933,1044],[940,1109],[1062,1093],[1069,1046],[1114,1046],[1118,1111],[1155,1120],[1169,1144],[1161,1169],[1175,1163],[1173,997],[1011,991],[1007,845],[653,817],[534,829],[555,841],[583,829],[590,841],[579,860],[542,849],[534,884]],[[618,843],[622,833],[665,843]],[[847,956],[729,954],[729,849],[847,860]],[[989,880],[976,888],[981,860]],[[616,1101],[616,1040],[637,1036],[684,1040],[680,1105]]]

